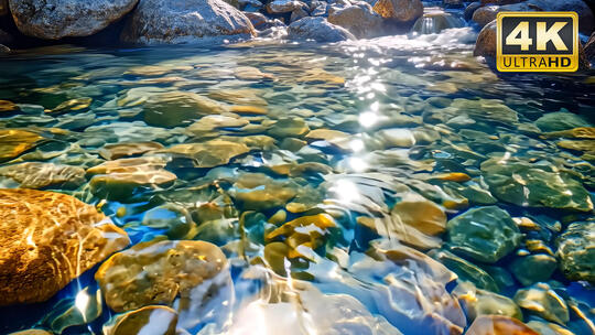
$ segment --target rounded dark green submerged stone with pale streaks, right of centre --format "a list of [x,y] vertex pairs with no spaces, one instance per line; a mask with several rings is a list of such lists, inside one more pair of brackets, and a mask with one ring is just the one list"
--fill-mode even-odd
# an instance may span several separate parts
[[448,246],[455,253],[494,263],[520,242],[520,230],[510,215],[496,206],[469,209],[448,221]]

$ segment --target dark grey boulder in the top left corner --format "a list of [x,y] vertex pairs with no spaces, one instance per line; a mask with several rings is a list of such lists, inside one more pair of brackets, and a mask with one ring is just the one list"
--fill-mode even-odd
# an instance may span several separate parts
[[138,0],[9,0],[19,31],[44,40],[88,36],[130,12]]

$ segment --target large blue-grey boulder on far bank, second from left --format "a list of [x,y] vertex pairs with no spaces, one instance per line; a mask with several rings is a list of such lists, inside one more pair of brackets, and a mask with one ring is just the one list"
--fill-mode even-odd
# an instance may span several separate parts
[[121,40],[140,44],[223,42],[255,34],[250,20],[223,0],[141,0]]

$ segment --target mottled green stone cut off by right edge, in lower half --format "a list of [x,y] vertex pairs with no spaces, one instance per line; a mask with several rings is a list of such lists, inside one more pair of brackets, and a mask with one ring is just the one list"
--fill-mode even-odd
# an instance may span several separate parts
[[573,223],[558,238],[560,270],[570,280],[595,283],[595,221]]

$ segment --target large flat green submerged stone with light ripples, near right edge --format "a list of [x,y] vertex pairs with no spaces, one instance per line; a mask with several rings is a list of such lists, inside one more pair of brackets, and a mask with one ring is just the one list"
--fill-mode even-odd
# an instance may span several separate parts
[[496,156],[482,163],[482,172],[500,201],[523,207],[593,209],[591,195],[581,182],[572,173],[551,165]]

